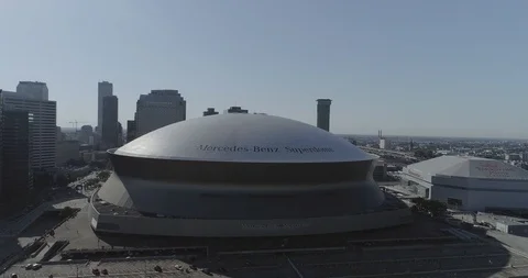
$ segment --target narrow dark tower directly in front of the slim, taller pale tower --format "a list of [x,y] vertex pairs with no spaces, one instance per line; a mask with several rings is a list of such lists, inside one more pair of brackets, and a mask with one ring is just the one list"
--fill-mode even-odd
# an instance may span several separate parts
[[101,141],[105,148],[119,145],[118,136],[118,97],[109,96],[102,99]]

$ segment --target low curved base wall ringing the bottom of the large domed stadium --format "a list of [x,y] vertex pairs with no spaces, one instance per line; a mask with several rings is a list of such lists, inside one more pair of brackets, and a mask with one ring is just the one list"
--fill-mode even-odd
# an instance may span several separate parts
[[92,202],[89,207],[89,219],[96,232],[193,237],[329,234],[383,229],[411,222],[408,209],[331,218],[207,220],[100,214]]

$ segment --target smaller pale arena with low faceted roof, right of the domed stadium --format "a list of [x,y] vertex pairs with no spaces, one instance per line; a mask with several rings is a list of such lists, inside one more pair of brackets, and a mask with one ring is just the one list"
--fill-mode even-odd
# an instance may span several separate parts
[[405,167],[402,184],[418,196],[455,209],[528,209],[528,171],[499,160],[440,156]]

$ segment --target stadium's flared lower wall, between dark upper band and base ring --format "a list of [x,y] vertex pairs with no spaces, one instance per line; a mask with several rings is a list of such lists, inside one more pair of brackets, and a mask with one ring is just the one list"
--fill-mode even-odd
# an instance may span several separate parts
[[376,210],[385,199],[372,181],[235,186],[154,181],[117,174],[98,191],[98,198],[123,209],[184,219],[352,215]]

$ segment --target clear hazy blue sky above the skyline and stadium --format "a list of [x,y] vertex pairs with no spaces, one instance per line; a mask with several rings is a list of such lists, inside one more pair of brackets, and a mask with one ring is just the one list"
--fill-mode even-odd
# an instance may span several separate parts
[[1,0],[0,88],[47,82],[58,125],[178,89],[336,133],[528,138],[528,1]]

